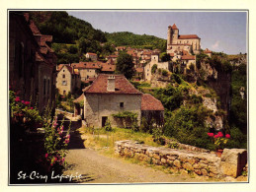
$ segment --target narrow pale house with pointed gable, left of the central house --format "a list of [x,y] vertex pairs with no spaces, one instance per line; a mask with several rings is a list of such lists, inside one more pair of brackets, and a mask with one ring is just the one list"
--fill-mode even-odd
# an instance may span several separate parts
[[58,93],[66,96],[68,93],[74,94],[81,88],[80,75],[74,72],[74,67],[66,64],[60,64],[56,78],[56,88]]

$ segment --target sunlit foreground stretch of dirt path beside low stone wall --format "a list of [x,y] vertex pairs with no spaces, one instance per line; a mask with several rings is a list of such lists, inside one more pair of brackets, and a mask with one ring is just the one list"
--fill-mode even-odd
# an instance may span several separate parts
[[144,165],[105,157],[90,149],[69,150],[66,160],[70,167],[64,174],[82,174],[80,182],[203,182],[202,177],[193,178],[188,174],[168,174]]

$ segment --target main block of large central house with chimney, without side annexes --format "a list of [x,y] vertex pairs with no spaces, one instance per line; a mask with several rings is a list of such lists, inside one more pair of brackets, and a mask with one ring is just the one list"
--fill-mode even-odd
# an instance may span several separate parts
[[90,127],[104,127],[109,119],[112,126],[120,122],[112,115],[130,111],[141,118],[141,95],[123,75],[100,74],[84,92],[84,119]]

